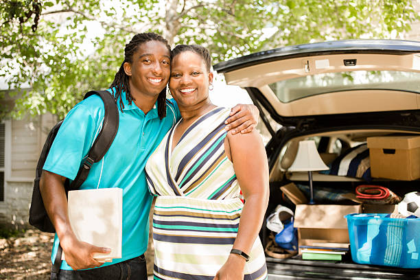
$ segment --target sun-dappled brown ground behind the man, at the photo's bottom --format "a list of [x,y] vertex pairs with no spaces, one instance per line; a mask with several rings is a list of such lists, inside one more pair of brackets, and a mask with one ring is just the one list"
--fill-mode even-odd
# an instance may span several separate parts
[[[51,270],[54,234],[28,229],[16,237],[0,239],[0,279],[47,280]],[[153,254],[146,252],[148,273],[153,272]],[[153,250],[153,249],[152,249]]]

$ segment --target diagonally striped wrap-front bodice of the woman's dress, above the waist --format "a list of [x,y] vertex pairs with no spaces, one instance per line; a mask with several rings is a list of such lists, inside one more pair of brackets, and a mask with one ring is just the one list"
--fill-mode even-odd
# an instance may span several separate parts
[[[172,137],[176,126],[167,133],[149,160],[152,162],[155,158],[159,161],[155,165],[146,165],[152,194],[206,199],[239,195],[233,164],[224,153],[224,121],[229,112],[226,108],[215,108],[202,115],[187,128],[173,151]],[[162,178],[165,178],[165,184],[156,185]]]

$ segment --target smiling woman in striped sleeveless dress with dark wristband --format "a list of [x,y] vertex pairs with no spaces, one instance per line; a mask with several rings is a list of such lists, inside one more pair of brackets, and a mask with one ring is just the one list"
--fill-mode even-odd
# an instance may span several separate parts
[[266,152],[258,132],[224,131],[229,109],[209,100],[210,66],[204,47],[172,50],[169,85],[182,119],[146,165],[150,192],[157,196],[154,276],[266,279],[257,237],[268,203]]

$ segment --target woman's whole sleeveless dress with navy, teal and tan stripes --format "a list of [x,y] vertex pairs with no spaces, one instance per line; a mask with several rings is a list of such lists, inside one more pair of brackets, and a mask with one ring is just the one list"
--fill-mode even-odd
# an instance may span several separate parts
[[[146,165],[153,215],[154,279],[211,280],[229,256],[242,207],[233,164],[224,153],[227,108],[215,108],[184,132],[172,151],[174,128]],[[266,279],[256,238],[244,279]]]

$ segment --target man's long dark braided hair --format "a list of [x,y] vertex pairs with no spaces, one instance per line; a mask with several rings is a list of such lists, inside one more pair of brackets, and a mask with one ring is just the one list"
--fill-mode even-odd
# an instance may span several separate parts
[[[132,37],[130,43],[126,44],[126,48],[124,49],[124,61],[121,63],[121,67],[119,67],[118,72],[115,74],[114,81],[110,85],[110,88],[114,93],[115,100],[117,102],[119,100],[121,112],[123,112],[124,108],[121,96],[123,91],[126,92],[126,99],[128,100],[128,104],[131,105],[132,100],[134,100],[130,93],[130,76],[128,76],[124,71],[124,63],[132,63],[132,56],[135,54],[137,49],[139,49],[139,46],[143,43],[147,43],[153,40],[165,44],[167,49],[171,51],[171,47],[168,45],[167,40],[165,40],[165,38],[163,38],[161,35],[152,32],[136,34],[134,37]],[[166,87],[161,91],[161,93],[159,93],[158,96],[158,115],[160,119],[163,119],[163,117],[166,116]]]

